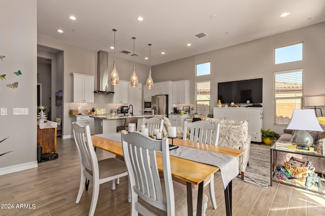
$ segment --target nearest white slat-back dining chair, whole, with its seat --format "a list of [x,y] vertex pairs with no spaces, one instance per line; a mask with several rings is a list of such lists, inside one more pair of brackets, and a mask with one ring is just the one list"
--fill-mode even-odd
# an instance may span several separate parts
[[[154,140],[140,132],[122,131],[122,149],[131,184],[131,215],[187,215],[186,186],[172,180],[168,138]],[[159,178],[156,151],[162,153],[164,178]],[[194,215],[198,192],[192,193]],[[203,194],[202,215],[208,197]],[[154,213],[153,213],[154,212]]]

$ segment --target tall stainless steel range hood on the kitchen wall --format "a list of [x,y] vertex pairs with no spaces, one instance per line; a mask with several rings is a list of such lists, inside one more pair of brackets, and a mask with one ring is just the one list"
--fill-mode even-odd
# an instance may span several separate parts
[[97,91],[94,93],[114,94],[108,70],[108,52],[102,50],[97,52]]

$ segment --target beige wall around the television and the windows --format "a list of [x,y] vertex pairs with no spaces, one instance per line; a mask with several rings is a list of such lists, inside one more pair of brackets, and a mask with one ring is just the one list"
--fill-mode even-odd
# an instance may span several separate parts
[[[274,48],[304,42],[303,61],[274,65]],[[190,99],[194,103],[194,82],[211,80],[211,113],[217,103],[217,83],[263,78],[264,128],[282,134],[283,126],[273,125],[273,72],[303,68],[304,96],[325,95],[325,22],[265,37],[152,67],[154,82],[191,80]],[[211,74],[195,77],[195,65],[211,62]],[[310,108],[310,107],[306,107]],[[325,107],[321,107],[324,112]]]

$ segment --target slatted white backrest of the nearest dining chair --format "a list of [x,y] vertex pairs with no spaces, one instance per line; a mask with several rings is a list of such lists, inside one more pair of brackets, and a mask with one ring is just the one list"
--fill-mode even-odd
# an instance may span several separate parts
[[[165,211],[175,209],[168,138],[154,140],[139,132],[126,134],[125,131],[122,131],[121,137],[132,192],[157,208]],[[163,201],[163,189],[157,168],[156,151],[162,152],[163,155],[166,196],[170,199],[167,203]]]

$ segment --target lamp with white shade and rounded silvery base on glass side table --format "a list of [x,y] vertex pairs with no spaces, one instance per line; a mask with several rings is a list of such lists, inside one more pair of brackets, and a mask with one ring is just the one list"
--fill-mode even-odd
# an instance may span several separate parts
[[313,144],[313,138],[306,130],[323,131],[315,112],[311,109],[294,109],[287,129],[297,130],[293,137],[293,144],[302,147],[309,147]]

